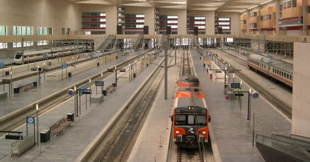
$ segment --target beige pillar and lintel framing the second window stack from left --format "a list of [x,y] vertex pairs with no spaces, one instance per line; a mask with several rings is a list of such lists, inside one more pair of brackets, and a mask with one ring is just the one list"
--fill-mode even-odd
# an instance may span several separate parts
[[144,14],[144,26],[149,26],[149,34],[155,34],[155,8],[154,7],[124,7],[125,13]]

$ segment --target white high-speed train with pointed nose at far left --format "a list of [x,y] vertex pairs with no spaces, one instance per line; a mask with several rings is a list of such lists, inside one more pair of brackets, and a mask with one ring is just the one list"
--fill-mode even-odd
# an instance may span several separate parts
[[[89,50],[86,46],[75,45],[75,46],[65,46],[59,48],[52,48],[49,50],[40,51],[25,51],[24,52],[24,63],[34,62],[44,59],[44,54],[47,54],[47,58],[53,58],[56,56],[66,56],[70,54],[85,53]],[[14,56],[15,64],[22,64],[22,52],[17,52]]]

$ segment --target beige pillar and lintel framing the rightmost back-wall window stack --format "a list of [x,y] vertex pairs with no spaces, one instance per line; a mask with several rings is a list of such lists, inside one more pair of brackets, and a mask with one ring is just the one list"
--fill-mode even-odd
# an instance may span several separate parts
[[[230,20],[231,34],[240,34],[240,14],[238,12],[215,12],[215,17],[228,17]],[[224,30],[225,31],[225,30]]]

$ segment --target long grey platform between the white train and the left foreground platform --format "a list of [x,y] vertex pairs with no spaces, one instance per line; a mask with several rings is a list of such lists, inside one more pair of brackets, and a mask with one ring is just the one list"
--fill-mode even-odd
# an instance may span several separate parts
[[[131,54],[127,54],[124,56],[121,56],[119,59],[113,59],[109,60],[106,63],[101,64],[100,66],[96,66],[88,71],[81,72],[79,74],[73,75],[71,78],[65,78],[63,80],[59,81],[47,81],[44,80],[44,74],[41,73],[41,85],[38,85],[36,87],[32,87],[32,89],[25,91],[25,92],[19,92],[13,94],[11,97],[8,98],[1,98],[0,99],[0,118],[2,118],[5,115],[8,115],[9,113],[13,113],[14,111],[24,108],[30,104],[35,103],[39,99],[48,97],[51,94],[54,94],[63,88],[66,88],[74,83],[77,83],[83,79],[89,78],[92,75],[102,72],[103,70],[106,70],[107,68],[114,67],[116,64],[123,62],[129,58],[137,57],[140,52],[132,52]],[[65,70],[63,70],[65,73]],[[29,71],[27,71],[29,72]],[[27,73],[25,72],[25,73]],[[45,75],[48,75],[48,72]],[[32,83],[33,81],[38,81],[38,76],[35,75],[33,77],[23,79],[21,81],[14,81],[13,87],[16,87],[18,84],[27,84]],[[37,82],[37,84],[39,84]],[[0,86],[0,89],[3,90],[3,85]],[[8,91],[8,85],[5,86],[5,91]]]

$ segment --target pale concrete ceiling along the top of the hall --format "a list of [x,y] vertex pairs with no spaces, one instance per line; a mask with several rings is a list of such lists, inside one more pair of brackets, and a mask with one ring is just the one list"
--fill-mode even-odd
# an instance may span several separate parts
[[241,12],[271,0],[66,0],[73,3]]

